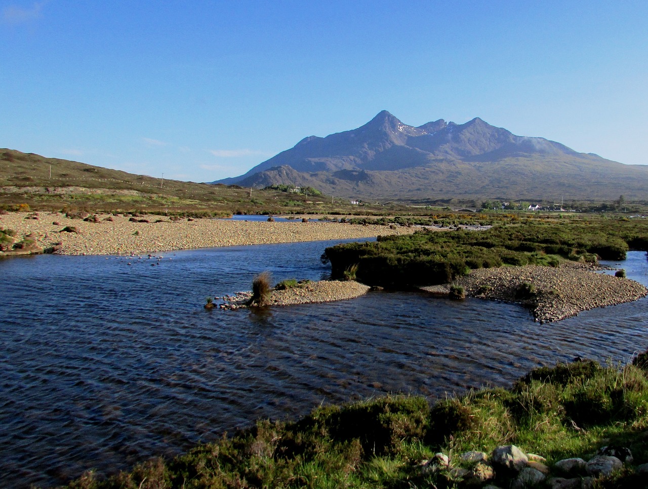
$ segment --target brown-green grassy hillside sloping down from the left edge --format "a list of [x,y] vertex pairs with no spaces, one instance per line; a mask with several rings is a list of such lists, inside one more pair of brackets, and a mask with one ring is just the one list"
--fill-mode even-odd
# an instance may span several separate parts
[[[332,200],[334,200],[332,202]],[[237,185],[161,180],[78,161],[0,149],[0,208],[152,213],[351,213],[347,200]],[[378,210],[378,209],[374,209]],[[364,208],[363,211],[370,211]]]

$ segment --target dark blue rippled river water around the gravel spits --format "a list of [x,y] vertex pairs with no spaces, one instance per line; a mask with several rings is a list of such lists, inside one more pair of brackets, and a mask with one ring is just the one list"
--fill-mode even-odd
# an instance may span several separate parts
[[[203,309],[205,296],[249,289],[264,269],[275,281],[327,276],[327,245],[0,261],[0,485],[128,468],[323,402],[434,399],[575,355],[627,361],[648,348],[646,299],[555,324],[516,305],[411,292]],[[622,266],[648,283],[645,254]]]

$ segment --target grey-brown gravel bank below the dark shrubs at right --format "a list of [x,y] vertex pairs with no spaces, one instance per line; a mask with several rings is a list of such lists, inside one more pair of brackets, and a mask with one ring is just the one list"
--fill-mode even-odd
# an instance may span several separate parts
[[[631,302],[648,294],[646,287],[634,280],[568,265],[480,268],[459,278],[457,285],[463,286],[468,296],[529,307],[539,322],[561,320],[581,311]],[[535,293],[521,297],[522,283],[532,284]],[[423,289],[441,294],[449,291],[450,284]]]

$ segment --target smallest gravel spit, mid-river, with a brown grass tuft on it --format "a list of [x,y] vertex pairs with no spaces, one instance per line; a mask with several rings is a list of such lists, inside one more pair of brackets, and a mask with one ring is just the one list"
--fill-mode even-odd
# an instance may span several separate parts
[[[295,304],[317,304],[319,302],[333,302],[336,300],[354,299],[366,294],[371,287],[362,283],[349,280],[321,280],[308,282],[301,287],[292,287],[284,291],[272,291],[270,306],[273,305],[295,305]],[[220,309],[242,309],[248,307],[251,292],[237,292],[233,296],[223,298],[216,297],[217,307]]]

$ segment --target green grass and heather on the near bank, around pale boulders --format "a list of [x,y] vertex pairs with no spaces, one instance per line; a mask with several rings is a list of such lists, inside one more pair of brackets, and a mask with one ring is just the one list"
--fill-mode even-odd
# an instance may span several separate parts
[[[423,474],[423,460],[502,444],[543,455],[550,466],[614,444],[630,448],[642,464],[648,462],[647,375],[648,352],[623,367],[584,361],[539,368],[510,389],[483,389],[432,407],[408,396],[324,406],[297,422],[259,421],[108,479],[88,472],[68,487],[440,489],[460,484],[449,473]],[[638,477],[624,468],[595,486],[645,486]]]

